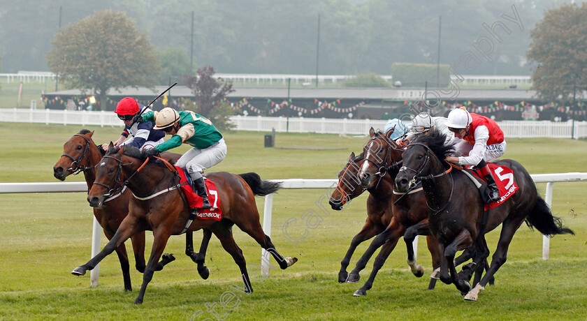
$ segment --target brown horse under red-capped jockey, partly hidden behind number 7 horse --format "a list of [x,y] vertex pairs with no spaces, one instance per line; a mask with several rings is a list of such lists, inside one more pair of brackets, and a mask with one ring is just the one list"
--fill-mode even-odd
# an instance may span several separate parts
[[[92,140],[94,132],[82,129],[79,133],[73,135],[63,146],[63,154],[53,166],[53,176],[64,181],[66,177],[71,174],[84,173],[85,181],[87,183],[88,191],[94,185],[96,179],[95,166],[101,160],[104,151],[101,147],[97,147]],[[181,156],[180,154],[164,153],[161,155],[166,160],[175,163]],[[113,193],[103,203],[103,207],[94,208],[94,216],[100,223],[104,230],[104,234],[110,240],[114,236],[120,223],[129,212],[129,201],[132,193],[128,188],[125,188],[118,193]],[[210,240],[211,232],[204,230],[204,237],[199,253],[194,253],[192,245],[191,233],[186,234],[187,245],[186,255],[191,257],[194,262],[198,263],[198,272],[203,278],[208,278],[209,270],[204,265],[205,251]],[[145,271],[145,232],[138,233],[131,237],[133,244],[133,252],[135,255],[136,269],[143,273]],[[122,268],[122,278],[124,280],[124,290],[131,291],[131,276],[129,272],[129,257],[126,254],[126,246],[120,244],[115,249],[120,266]],[[163,260],[159,262],[158,269],[162,269],[165,264],[175,260],[173,255],[164,256]]]

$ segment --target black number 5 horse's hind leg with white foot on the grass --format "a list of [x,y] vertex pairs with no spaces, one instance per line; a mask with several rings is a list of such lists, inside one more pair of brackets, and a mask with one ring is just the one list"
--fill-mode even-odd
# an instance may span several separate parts
[[507,260],[507,249],[509,244],[512,242],[514,233],[520,227],[523,221],[504,221],[502,223],[502,230],[500,232],[500,240],[498,241],[498,247],[495,248],[495,253],[491,258],[491,267],[487,273],[481,278],[481,281],[475,285],[475,288],[465,295],[465,300],[477,301],[479,292],[485,289],[485,285],[493,278],[495,272],[505,263]]

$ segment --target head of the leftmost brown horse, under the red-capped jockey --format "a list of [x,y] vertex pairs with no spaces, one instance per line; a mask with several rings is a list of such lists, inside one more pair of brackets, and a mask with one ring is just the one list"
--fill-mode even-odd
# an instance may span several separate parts
[[94,135],[93,131],[82,129],[63,145],[63,154],[53,166],[53,176],[56,179],[64,181],[70,174],[78,174],[92,167],[90,149],[95,146],[92,135]]

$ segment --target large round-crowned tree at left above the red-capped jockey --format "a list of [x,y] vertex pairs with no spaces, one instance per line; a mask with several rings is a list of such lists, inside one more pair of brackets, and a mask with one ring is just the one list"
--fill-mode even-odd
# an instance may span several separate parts
[[50,70],[69,87],[92,89],[102,110],[110,88],[152,87],[161,68],[134,20],[113,10],[62,28],[52,44],[47,54]]

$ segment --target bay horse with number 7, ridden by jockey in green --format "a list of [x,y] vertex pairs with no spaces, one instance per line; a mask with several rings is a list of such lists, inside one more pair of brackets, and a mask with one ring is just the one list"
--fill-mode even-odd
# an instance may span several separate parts
[[[135,304],[141,304],[147,284],[151,281],[157,260],[163,254],[168,238],[172,234],[180,234],[182,230],[200,230],[207,227],[220,240],[224,249],[229,252],[240,268],[245,291],[252,292],[247,273],[245,257],[236,245],[232,226],[236,224],[240,230],[249,234],[261,247],[270,252],[282,269],[287,269],[298,259],[282,257],[277,253],[271,239],[263,232],[259,223],[254,195],[268,195],[280,188],[279,183],[263,181],[258,174],[230,174],[228,172],[208,172],[207,179],[215,182],[218,197],[221,200],[222,220],[199,220],[187,223],[190,208],[184,201],[180,188],[179,177],[175,169],[160,161],[145,159],[136,148],[110,149],[101,163],[96,166],[96,181],[88,193],[87,200],[92,207],[100,207],[109,189],[117,185],[126,185],[136,197],[131,198],[129,215],[124,218],[114,237],[103,250],[86,264],[75,268],[71,273],[83,275],[93,269],[106,255],[122,244],[126,239],[143,232],[153,231],[153,248]],[[139,200],[137,197],[140,197]]]

